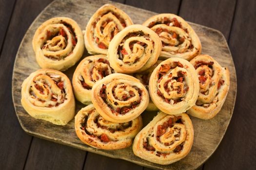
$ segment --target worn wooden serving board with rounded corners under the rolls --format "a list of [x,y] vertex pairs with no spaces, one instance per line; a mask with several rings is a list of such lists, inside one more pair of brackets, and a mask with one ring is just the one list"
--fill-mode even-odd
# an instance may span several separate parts
[[[14,64],[12,95],[16,114],[21,127],[25,132],[33,136],[79,148],[81,150],[113,158],[124,159],[154,169],[197,169],[217,149],[227,130],[236,100],[236,70],[227,42],[224,36],[217,30],[190,23],[201,40],[202,53],[213,56],[222,67],[229,68],[230,89],[228,96],[221,111],[213,119],[201,120],[191,117],[195,130],[192,150],[185,158],[171,165],[158,165],[140,159],[134,155],[132,147],[114,151],[104,151],[89,147],[83,144],[76,136],[74,119],[65,126],[58,126],[44,120],[30,117],[21,106],[21,84],[30,73],[39,69],[35,53],[32,48],[32,38],[39,25],[51,17],[71,17],[76,20],[81,29],[84,30],[89,18],[105,3],[112,3],[122,9],[136,24],[142,24],[147,18],[157,14],[107,0],[55,0],[52,2],[35,19],[27,33],[24,35]],[[89,56],[86,50],[83,56]],[[72,75],[76,67],[77,65],[64,72],[68,75],[70,80],[72,80]],[[76,102],[76,104],[76,112],[85,106],[80,102]],[[156,112],[144,112],[142,114],[144,126],[153,119],[156,114]]]

